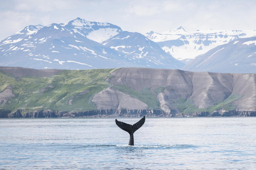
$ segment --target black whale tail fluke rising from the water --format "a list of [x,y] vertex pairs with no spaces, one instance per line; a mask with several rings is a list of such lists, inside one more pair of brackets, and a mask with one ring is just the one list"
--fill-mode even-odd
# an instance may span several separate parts
[[124,131],[127,131],[130,134],[130,140],[128,145],[133,146],[134,145],[134,139],[133,139],[133,133],[138,130],[139,128],[142,127],[142,125],[145,123],[145,116],[143,116],[143,118],[141,120],[139,120],[139,122],[130,125],[130,124],[126,124],[124,122],[120,122],[118,120],[116,120],[116,125],[121,128]]

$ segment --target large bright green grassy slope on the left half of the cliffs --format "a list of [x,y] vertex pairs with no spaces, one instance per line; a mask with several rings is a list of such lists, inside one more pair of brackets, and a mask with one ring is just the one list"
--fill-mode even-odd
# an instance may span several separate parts
[[[64,70],[52,77],[26,76],[16,80],[12,75],[0,72],[0,92],[7,86],[13,87],[15,97],[0,109],[25,109],[26,111],[50,109],[52,111],[84,111],[95,110],[96,105],[92,97],[108,88],[105,81],[112,77],[110,73],[115,69],[95,70]],[[50,88],[49,85],[54,86]],[[47,91],[40,92],[42,89]],[[89,90],[86,94],[80,92]],[[68,101],[73,98],[73,104]]]

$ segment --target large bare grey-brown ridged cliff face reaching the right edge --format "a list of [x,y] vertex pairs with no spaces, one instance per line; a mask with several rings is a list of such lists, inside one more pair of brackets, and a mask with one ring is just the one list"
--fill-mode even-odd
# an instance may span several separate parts
[[235,101],[236,111],[256,110],[256,74],[188,72],[182,70],[121,68],[111,73],[110,83],[121,84],[140,91],[164,87],[158,94],[161,109],[175,110],[172,101],[189,99],[198,108],[207,108],[231,95],[243,96]]

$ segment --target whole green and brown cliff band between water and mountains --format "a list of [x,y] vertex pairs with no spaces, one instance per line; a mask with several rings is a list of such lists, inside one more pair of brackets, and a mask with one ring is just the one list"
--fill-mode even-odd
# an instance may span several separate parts
[[0,70],[1,118],[255,116],[256,111],[255,74]]

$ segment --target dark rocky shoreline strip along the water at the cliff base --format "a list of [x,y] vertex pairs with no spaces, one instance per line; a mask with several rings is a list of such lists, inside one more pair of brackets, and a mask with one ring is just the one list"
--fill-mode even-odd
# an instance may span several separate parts
[[[172,114],[161,110],[94,110],[84,112],[63,112],[41,110],[23,113],[24,111],[0,110],[0,118],[111,118],[111,117],[254,117],[256,111],[215,111],[195,112],[192,114]],[[22,114],[23,113],[23,114]]]

